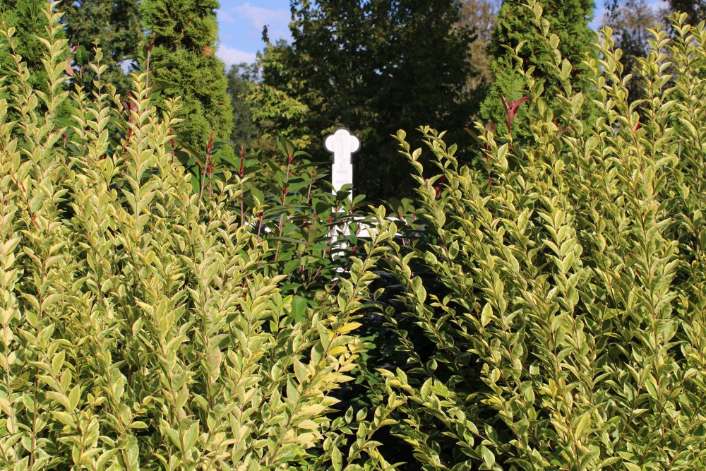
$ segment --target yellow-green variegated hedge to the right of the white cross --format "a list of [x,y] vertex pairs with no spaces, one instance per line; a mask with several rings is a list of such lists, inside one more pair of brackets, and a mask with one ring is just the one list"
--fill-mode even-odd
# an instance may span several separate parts
[[561,105],[522,72],[533,137],[478,126],[490,181],[430,129],[425,176],[397,135],[428,243],[388,258],[405,306],[388,323],[409,359],[381,370],[405,401],[394,431],[424,470],[705,469],[704,24],[654,32],[631,105],[604,29],[589,63],[600,117],[585,124],[530,4]]

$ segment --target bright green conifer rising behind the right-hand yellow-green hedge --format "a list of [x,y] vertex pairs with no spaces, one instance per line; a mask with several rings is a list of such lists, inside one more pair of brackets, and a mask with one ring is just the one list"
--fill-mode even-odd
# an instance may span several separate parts
[[[549,51],[538,42],[534,36],[534,20],[532,12],[524,4],[525,0],[505,0],[496,16],[496,27],[489,45],[491,71],[495,82],[491,85],[486,100],[481,105],[481,117],[486,123],[493,122],[498,126],[498,132],[507,131],[507,117],[505,107],[500,95],[508,100],[519,100],[527,95],[527,90],[522,82],[522,77],[515,72],[517,64],[513,59],[513,52],[505,46],[515,49],[524,42],[518,56],[524,61],[524,66],[534,67],[534,76],[544,82],[547,104],[554,106],[551,99],[556,94],[558,82],[549,71],[551,57]],[[540,1],[544,7],[544,20],[549,28],[557,35],[558,49],[565,59],[573,66],[571,84],[575,90],[587,92],[590,81],[587,78],[587,66],[582,61],[592,55],[592,44],[595,42],[595,33],[589,28],[588,23],[593,16],[593,0],[566,0],[566,1]],[[525,121],[527,107],[520,107],[517,121]],[[588,117],[586,117],[587,120]],[[527,136],[528,129],[522,131],[522,136]]]

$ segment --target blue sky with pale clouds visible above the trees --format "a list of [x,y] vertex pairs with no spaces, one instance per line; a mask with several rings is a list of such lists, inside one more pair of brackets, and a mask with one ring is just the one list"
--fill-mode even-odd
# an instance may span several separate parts
[[[591,24],[594,28],[602,24],[603,3],[603,0],[596,0],[596,14]],[[647,3],[659,6],[664,1],[648,0]],[[256,52],[264,45],[264,25],[268,25],[270,40],[289,39],[289,0],[221,0],[220,4],[220,47],[217,54],[227,66],[255,60]]]

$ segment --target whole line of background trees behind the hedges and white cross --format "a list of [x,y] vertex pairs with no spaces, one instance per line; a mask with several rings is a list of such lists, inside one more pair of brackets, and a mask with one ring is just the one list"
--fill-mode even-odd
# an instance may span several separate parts
[[[18,54],[26,59],[30,81],[44,83],[39,40],[44,0],[7,0],[0,17],[18,28]],[[182,97],[178,139],[181,162],[198,174],[207,150],[234,165],[241,146],[249,155],[272,157],[275,136],[291,139],[326,162],[323,136],[347,126],[361,137],[355,160],[357,193],[372,201],[409,196],[412,180],[399,172],[400,156],[390,134],[419,124],[446,129],[470,144],[464,128],[476,119],[489,129],[504,126],[506,105],[523,96],[504,45],[526,43],[520,57],[546,77],[548,57],[528,34],[531,22],[522,1],[391,0],[291,1],[291,42],[270,42],[254,64],[236,64],[224,74],[217,58],[216,11],[212,1],[70,1],[61,23],[72,48],[68,58],[78,81],[90,88],[93,74],[83,66],[100,39],[107,70],[104,80],[122,100],[128,71],[145,68],[147,53],[157,85],[157,103]],[[581,61],[592,54],[594,1],[545,2],[546,20],[560,38],[560,50],[577,64],[575,86],[586,89]],[[705,17],[699,1],[670,1],[655,11],[645,0],[606,0],[606,22],[626,54],[647,48],[647,28],[664,23],[670,11],[685,11],[692,23]],[[6,58],[2,59],[7,61]],[[8,64],[4,64],[8,65]],[[546,88],[556,83],[546,81]],[[628,86],[631,97],[640,93]],[[502,95],[502,97],[501,97]],[[506,103],[503,104],[503,98]],[[162,105],[160,105],[162,106]],[[517,119],[525,113],[517,109]],[[587,110],[590,114],[590,109]],[[587,117],[588,119],[588,117]],[[210,143],[210,144],[209,144]],[[465,146],[460,157],[479,162],[479,150]],[[199,163],[201,162],[201,163]],[[230,162],[227,164],[226,162]],[[236,162],[237,163],[237,162]]]

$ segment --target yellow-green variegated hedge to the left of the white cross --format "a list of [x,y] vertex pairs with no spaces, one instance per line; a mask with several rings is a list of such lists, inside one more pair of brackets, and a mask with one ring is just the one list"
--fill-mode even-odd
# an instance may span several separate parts
[[350,469],[383,463],[371,436],[388,408],[339,410],[332,393],[366,349],[352,333],[387,236],[294,302],[253,230],[263,198],[243,213],[228,172],[193,191],[171,147],[178,102],[157,115],[149,71],[127,107],[100,49],[95,91],[68,83],[55,6],[49,92],[13,54],[19,85],[0,93],[0,467],[340,469],[342,450]]

